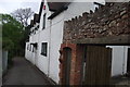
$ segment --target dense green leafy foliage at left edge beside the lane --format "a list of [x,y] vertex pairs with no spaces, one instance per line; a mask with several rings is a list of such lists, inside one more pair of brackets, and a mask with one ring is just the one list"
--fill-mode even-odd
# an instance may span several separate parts
[[9,58],[20,55],[23,52],[23,38],[25,30],[23,25],[9,14],[0,14],[2,16],[2,49],[9,51]]

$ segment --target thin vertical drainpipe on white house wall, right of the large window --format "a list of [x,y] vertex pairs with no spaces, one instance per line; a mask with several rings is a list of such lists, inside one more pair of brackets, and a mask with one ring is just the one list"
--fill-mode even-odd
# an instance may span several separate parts
[[50,38],[49,38],[49,64],[48,64],[48,77],[50,74],[50,57],[51,57],[51,26],[52,26],[52,20],[50,20]]

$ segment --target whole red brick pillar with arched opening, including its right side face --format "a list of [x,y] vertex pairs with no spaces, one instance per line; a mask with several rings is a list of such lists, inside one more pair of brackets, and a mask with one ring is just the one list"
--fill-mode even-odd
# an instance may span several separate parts
[[64,71],[64,55],[63,49],[72,49],[72,62],[70,62],[70,85],[80,85],[81,80],[81,61],[82,61],[82,51],[78,45],[75,44],[62,44],[61,46],[61,57],[60,57],[60,85],[65,85],[65,73]]

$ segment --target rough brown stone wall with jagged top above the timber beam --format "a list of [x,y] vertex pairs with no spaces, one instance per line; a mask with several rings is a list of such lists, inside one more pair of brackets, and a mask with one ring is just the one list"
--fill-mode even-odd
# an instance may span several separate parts
[[63,41],[120,35],[130,35],[130,2],[107,2],[94,12],[66,21]]

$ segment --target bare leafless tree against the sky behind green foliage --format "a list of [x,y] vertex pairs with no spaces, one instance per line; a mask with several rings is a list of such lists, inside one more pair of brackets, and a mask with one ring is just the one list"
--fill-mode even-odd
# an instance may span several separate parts
[[28,20],[34,14],[30,8],[27,9],[17,9],[11,13],[13,17],[20,21],[24,26],[28,26]]

